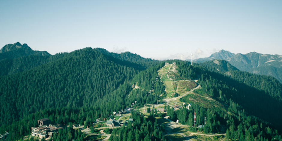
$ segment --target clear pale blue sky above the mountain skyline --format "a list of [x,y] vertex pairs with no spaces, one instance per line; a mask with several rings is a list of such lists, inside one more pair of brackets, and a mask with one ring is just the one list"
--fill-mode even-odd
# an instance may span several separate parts
[[282,1],[0,1],[0,47],[51,54],[85,47],[146,58],[282,55]]

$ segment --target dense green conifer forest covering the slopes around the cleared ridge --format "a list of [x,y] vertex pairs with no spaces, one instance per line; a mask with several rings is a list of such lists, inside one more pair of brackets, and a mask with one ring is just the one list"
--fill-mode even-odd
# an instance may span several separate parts
[[[171,120],[189,125],[193,132],[226,133],[227,140],[282,140],[281,83],[270,76],[239,71],[223,60],[192,66],[187,61],[156,61],[130,52],[118,54],[90,47],[56,55],[7,56],[0,60],[0,134],[8,131],[10,140],[29,135],[38,119],[88,127],[135,101],[135,107],[157,101],[164,104]],[[166,62],[177,66],[179,75],[173,81],[196,81],[201,86],[194,91],[197,97],[180,98],[192,104],[190,110],[174,110],[163,102],[166,86],[158,70]],[[194,113],[198,118],[192,127]],[[134,122],[115,128],[109,140],[167,140],[165,127],[155,116],[164,115],[131,112]],[[53,140],[84,138],[80,131],[65,128]]]

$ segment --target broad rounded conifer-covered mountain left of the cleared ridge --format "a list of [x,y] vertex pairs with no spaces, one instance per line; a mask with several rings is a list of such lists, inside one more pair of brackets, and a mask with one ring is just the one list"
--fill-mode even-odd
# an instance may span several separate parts
[[1,123],[48,108],[95,107],[138,73],[122,61],[85,48],[22,73],[0,77]]

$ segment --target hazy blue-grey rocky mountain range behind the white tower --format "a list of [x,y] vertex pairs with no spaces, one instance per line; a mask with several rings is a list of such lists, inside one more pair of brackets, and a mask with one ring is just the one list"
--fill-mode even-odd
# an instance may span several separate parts
[[207,58],[195,59],[194,62],[200,63],[214,59],[226,60],[241,71],[273,76],[282,83],[281,55],[269,55],[257,52],[250,52],[247,54],[234,54],[226,50],[220,50],[219,52],[211,54],[211,56]]

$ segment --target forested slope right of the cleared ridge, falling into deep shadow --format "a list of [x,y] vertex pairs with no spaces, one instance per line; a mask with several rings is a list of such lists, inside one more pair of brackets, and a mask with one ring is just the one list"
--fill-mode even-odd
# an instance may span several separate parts
[[[281,84],[276,79],[239,71],[223,60],[176,64],[181,79],[199,79],[201,88],[180,98],[192,105],[190,110],[167,108],[174,121],[193,126],[196,113],[196,126],[190,128],[193,132],[226,131],[225,140],[282,140],[278,133],[282,125]],[[268,84],[259,86],[259,82]]]

